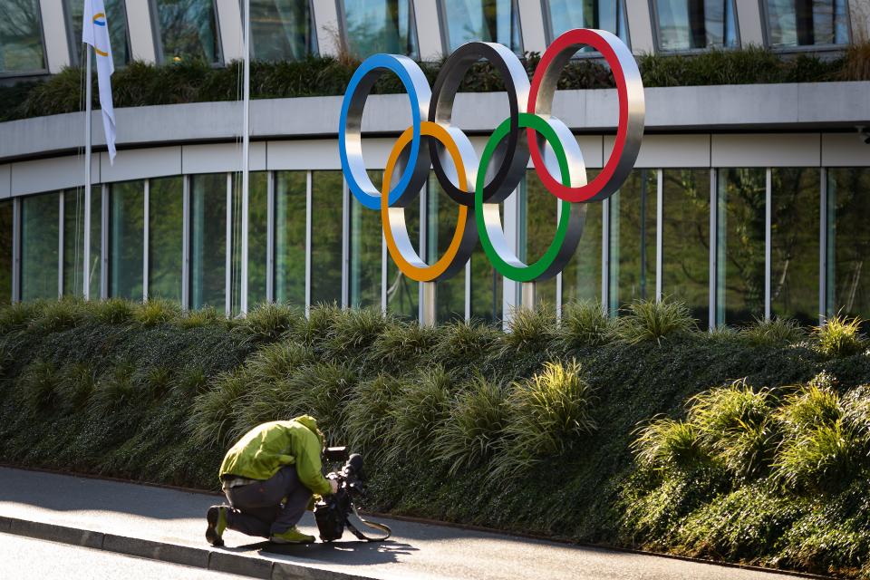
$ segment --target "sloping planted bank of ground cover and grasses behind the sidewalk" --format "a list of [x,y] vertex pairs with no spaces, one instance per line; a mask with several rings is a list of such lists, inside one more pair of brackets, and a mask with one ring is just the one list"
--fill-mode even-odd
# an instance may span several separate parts
[[0,461],[217,488],[229,445],[308,412],[370,509],[870,577],[860,321],[698,330],[681,304],[517,313],[508,333],[334,306],[0,310]]

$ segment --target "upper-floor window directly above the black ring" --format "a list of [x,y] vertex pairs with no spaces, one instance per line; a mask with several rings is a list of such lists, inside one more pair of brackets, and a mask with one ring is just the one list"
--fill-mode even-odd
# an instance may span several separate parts
[[523,52],[515,0],[441,0],[441,5],[450,52],[472,40]]

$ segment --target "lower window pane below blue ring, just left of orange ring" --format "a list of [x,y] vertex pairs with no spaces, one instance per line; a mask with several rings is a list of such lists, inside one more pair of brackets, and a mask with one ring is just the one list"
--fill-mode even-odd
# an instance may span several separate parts
[[[381,188],[382,171],[370,170],[369,179]],[[351,196],[350,305],[381,305],[381,212],[365,208]]]

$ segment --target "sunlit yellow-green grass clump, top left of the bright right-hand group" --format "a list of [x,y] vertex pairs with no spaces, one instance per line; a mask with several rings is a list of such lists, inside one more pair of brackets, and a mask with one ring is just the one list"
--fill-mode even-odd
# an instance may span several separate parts
[[755,478],[768,471],[778,445],[774,403],[770,391],[754,391],[745,381],[736,381],[693,397],[689,421],[732,477]]

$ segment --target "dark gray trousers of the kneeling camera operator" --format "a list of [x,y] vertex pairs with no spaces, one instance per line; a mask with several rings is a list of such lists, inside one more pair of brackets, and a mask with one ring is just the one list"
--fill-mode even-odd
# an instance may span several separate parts
[[227,527],[262,537],[294,527],[302,519],[312,495],[299,481],[295,465],[281,468],[266,481],[228,488],[224,493],[232,507],[227,510]]

